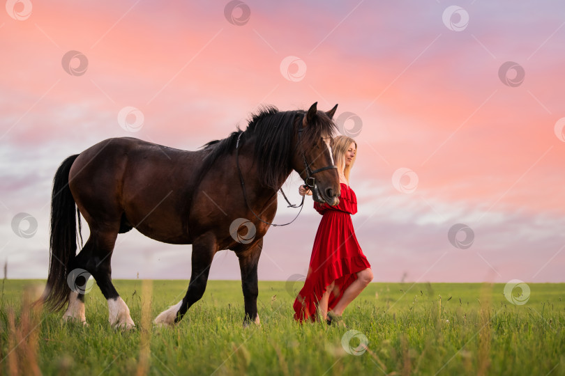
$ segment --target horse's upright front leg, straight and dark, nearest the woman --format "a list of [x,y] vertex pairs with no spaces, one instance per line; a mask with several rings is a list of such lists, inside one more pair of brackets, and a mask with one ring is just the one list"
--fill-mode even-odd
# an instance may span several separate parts
[[243,301],[245,302],[245,318],[243,318],[243,326],[248,326],[250,322],[259,324],[259,315],[257,313],[257,295],[259,288],[257,286],[257,264],[259,256],[263,249],[263,238],[261,238],[253,247],[237,253],[239,258],[239,269],[241,269],[241,288],[243,289]]

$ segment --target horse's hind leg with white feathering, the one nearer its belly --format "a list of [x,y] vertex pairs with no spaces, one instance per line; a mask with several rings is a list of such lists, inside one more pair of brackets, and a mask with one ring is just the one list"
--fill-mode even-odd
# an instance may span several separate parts
[[[96,279],[96,283],[98,283],[102,295],[104,295],[108,302],[110,325],[114,328],[123,327],[125,329],[131,329],[135,327],[135,324],[130,317],[130,310],[112,284],[110,259],[114,251],[118,229],[119,223],[111,228],[91,228],[89,240],[84,244],[82,251],[76,256],[72,267],[75,269],[84,269]],[[84,295],[82,296],[84,299]],[[71,292],[70,297],[73,298],[73,292]]]

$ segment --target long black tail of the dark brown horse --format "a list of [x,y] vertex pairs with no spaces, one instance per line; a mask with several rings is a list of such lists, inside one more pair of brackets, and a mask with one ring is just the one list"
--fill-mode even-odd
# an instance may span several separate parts
[[[68,174],[77,155],[61,163],[53,178],[51,196],[50,261],[43,303],[52,311],[59,311],[68,302],[70,287],[67,284],[68,267],[77,252],[77,210],[75,198],[68,187]],[[80,226],[80,216],[78,216]]]

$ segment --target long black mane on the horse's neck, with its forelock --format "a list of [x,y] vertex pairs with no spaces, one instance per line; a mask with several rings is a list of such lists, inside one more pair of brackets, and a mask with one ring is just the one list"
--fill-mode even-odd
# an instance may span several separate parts
[[[287,178],[292,154],[292,138],[297,131],[297,117],[302,120],[306,111],[278,111],[276,107],[261,107],[259,111],[252,114],[248,121],[246,130],[239,126],[236,132],[232,132],[225,139],[213,140],[205,143],[201,148],[208,150],[204,157],[201,171],[209,171],[216,159],[221,155],[229,155],[235,152],[237,138],[240,133],[241,143],[246,143],[255,138],[254,159],[259,162],[259,179],[262,185],[272,189],[279,189]],[[310,147],[320,137],[332,136],[336,131],[336,125],[328,116],[316,116],[315,124],[309,125],[301,134],[302,147]],[[205,173],[205,172],[204,172]]]

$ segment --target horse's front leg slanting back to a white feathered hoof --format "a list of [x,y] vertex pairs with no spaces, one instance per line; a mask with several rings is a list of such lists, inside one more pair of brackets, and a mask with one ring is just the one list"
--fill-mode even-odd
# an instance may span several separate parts
[[186,311],[188,311],[188,308],[202,298],[206,290],[206,283],[208,283],[210,265],[212,265],[214,254],[217,251],[218,245],[213,235],[203,235],[193,243],[193,270],[190,275],[188,291],[179,303],[170,306],[169,309],[160,313],[154,321],[155,324],[172,325],[175,322],[179,322]]

